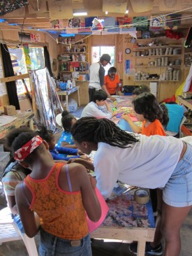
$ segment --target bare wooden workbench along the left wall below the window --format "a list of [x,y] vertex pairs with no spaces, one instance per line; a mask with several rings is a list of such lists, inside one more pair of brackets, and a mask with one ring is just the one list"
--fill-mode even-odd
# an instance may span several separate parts
[[34,113],[28,111],[17,111],[16,115],[13,117],[17,118],[13,120],[13,122],[8,123],[7,125],[3,125],[0,127],[0,139],[6,136],[11,130],[21,127],[22,125],[26,125],[29,122],[29,127],[34,129]]

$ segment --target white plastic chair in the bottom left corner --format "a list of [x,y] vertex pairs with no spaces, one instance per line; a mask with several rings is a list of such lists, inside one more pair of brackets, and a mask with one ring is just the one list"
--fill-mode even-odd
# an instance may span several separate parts
[[0,244],[8,241],[23,240],[29,256],[38,256],[35,239],[30,239],[27,234],[22,234],[13,219],[10,208],[0,211]]

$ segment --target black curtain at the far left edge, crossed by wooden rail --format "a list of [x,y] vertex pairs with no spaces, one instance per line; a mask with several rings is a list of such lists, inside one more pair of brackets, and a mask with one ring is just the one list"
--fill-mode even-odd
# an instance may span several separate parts
[[[9,76],[15,76],[7,45],[3,43],[1,43],[1,55],[5,78],[8,78]],[[8,82],[6,83],[6,85],[8,91],[9,104],[15,106],[16,109],[20,109],[15,81]]]

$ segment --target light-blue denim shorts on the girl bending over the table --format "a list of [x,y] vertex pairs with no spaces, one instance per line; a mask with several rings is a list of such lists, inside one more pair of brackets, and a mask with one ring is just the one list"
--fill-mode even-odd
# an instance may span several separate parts
[[163,188],[163,201],[175,207],[192,206],[192,146],[189,144]]

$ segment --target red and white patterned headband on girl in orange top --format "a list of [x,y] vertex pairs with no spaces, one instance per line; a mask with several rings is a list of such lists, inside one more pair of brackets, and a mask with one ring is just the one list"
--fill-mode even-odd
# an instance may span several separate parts
[[43,143],[43,139],[40,136],[34,136],[28,141],[26,144],[22,145],[22,148],[18,149],[14,153],[14,159],[20,162],[24,161],[24,159],[31,154],[38,146]]

